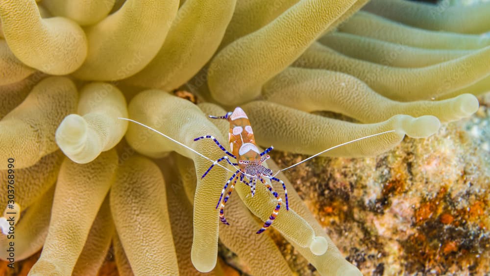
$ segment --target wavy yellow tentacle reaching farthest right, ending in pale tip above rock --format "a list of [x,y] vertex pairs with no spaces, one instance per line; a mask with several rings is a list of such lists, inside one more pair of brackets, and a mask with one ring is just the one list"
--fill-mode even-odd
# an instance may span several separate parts
[[461,120],[478,110],[471,94],[449,100],[400,102],[385,98],[361,80],[322,69],[290,67],[264,85],[266,100],[307,112],[328,110],[363,123],[377,123],[397,114],[433,115],[441,122]]

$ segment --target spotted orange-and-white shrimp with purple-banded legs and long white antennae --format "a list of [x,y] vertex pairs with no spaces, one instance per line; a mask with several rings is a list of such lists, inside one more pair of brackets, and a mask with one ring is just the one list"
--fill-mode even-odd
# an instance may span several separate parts
[[[395,131],[395,130],[388,130],[388,131],[364,136],[364,137],[361,137],[358,139],[354,139],[354,140],[339,144],[339,145],[334,146],[332,148],[321,151],[315,155],[312,155],[312,156],[310,156],[310,157],[308,157],[308,158],[306,158],[306,159],[304,159],[304,160],[302,160],[296,164],[293,164],[293,165],[291,165],[285,169],[279,170],[275,174],[273,174],[272,170],[270,170],[270,169],[268,169],[262,165],[262,163],[264,163],[267,159],[270,158],[270,155],[268,155],[267,153],[272,151],[273,147],[269,147],[268,149],[266,149],[265,151],[262,151],[262,152],[259,151],[257,145],[255,144],[255,137],[253,135],[253,130],[252,130],[252,127],[250,125],[250,121],[248,121],[248,117],[242,108],[237,107],[237,108],[235,108],[235,110],[233,112],[230,111],[230,112],[226,113],[224,116],[209,116],[209,118],[224,119],[230,123],[230,131],[229,131],[228,138],[229,138],[231,152],[227,151],[220,144],[220,142],[218,142],[218,140],[211,135],[205,135],[205,136],[197,137],[194,139],[194,141],[198,141],[201,139],[212,139],[216,143],[216,145],[221,149],[221,151],[224,151],[226,153],[226,155],[219,158],[218,160],[212,160],[211,158],[204,156],[203,154],[197,152],[196,150],[180,143],[179,141],[173,139],[172,137],[170,137],[170,136],[168,136],[168,135],[166,135],[166,134],[164,134],[164,133],[162,133],[162,132],[160,132],[160,131],[158,131],[158,130],[156,130],[156,129],[148,126],[148,125],[142,124],[140,122],[137,122],[137,121],[134,121],[134,120],[131,120],[128,118],[118,118],[118,119],[130,121],[130,122],[133,122],[135,124],[142,125],[148,129],[150,129],[151,131],[154,131],[154,132],[166,137],[167,139],[170,139],[172,142],[174,142],[174,143],[176,143],[182,147],[185,147],[186,149],[195,152],[199,156],[213,162],[213,164],[206,170],[206,172],[201,176],[201,178],[204,178],[215,165],[217,165],[217,166],[227,170],[228,172],[232,173],[233,175],[224,184],[224,186],[221,190],[220,199],[218,200],[218,204],[216,205],[216,209],[218,209],[218,207],[220,208],[220,221],[225,225],[229,225],[229,223],[226,221],[226,219],[224,217],[224,206],[225,206],[226,202],[228,201],[231,193],[233,192],[233,189],[234,189],[238,179],[240,179],[240,182],[242,182],[245,185],[250,187],[250,194],[252,197],[255,195],[257,179],[260,182],[262,182],[265,185],[265,187],[269,190],[269,192],[277,200],[277,205],[275,206],[274,210],[272,211],[272,214],[270,215],[269,219],[264,223],[264,226],[262,226],[262,228],[260,228],[256,232],[257,234],[264,232],[269,226],[272,225],[272,223],[274,222],[274,220],[275,220],[276,216],[278,215],[279,210],[282,206],[282,202],[283,202],[282,198],[272,188],[272,186],[271,186],[272,181],[276,181],[282,185],[282,188],[284,189],[284,196],[285,196],[285,201],[286,201],[286,210],[289,210],[288,191],[286,189],[286,185],[284,184],[284,182],[281,179],[275,177],[275,176],[277,176],[277,174],[279,174],[280,172],[286,171],[288,169],[291,169],[291,168],[293,168],[293,167],[295,167],[295,166],[297,166],[303,162],[306,162],[306,161],[308,161],[308,160],[310,160],[310,159],[312,159],[312,158],[314,158],[320,154],[323,154],[327,151],[331,151],[331,150],[336,149],[338,147],[342,147],[344,145],[347,145],[347,144],[350,144],[350,143],[353,143],[353,142],[356,142],[359,140],[363,140],[363,139],[367,139],[367,138],[370,138],[373,136],[382,135],[385,133],[390,133],[390,132]],[[229,157],[236,159],[238,161],[238,163],[233,163]],[[223,160],[226,160],[226,162],[229,165],[231,165],[233,168],[235,168],[236,171],[232,171],[232,170],[228,169],[227,167],[221,165],[220,162]],[[238,167],[236,167],[236,166],[238,166]],[[248,179],[246,179],[246,178],[248,178]],[[271,184],[268,184],[264,180],[264,178],[269,178],[271,181],[270,182]],[[229,186],[229,188],[228,188],[228,186]],[[227,188],[228,188],[228,192],[227,192],[226,196],[223,198],[223,195],[225,195]]]

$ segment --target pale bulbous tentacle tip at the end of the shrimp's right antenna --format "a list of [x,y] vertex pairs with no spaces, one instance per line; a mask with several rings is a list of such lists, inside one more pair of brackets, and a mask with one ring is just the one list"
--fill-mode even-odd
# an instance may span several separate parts
[[412,138],[426,138],[435,134],[441,127],[439,119],[432,115],[414,118],[409,115],[397,115],[398,124],[395,130]]

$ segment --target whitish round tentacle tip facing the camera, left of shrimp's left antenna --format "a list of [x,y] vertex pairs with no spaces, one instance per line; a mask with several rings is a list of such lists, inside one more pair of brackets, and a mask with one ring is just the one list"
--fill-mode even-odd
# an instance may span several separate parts
[[65,154],[76,154],[85,145],[87,130],[87,122],[85,122],[83,117],[77,114],[70,114],[63,119],[58,129],[56,129],[56,144]]

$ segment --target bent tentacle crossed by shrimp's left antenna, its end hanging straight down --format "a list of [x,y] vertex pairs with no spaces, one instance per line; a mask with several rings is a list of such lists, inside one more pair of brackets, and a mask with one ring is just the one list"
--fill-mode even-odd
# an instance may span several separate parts
[[[174,97],[161,90],[146,90],[138,94],[128,106],[129,117],[150,125],[166,133],[177,141],[192,147],[214,160],[221,157],[216,152],[213,141],[195,143],[194,137],[207,133],[222,141],[221,134],[210,123],[202,111],[191,102]],[[169,151],[176,151],[194,160],[196,174],[202,175],[209,162],[195,153],[176,145],[167,139],[131,124],[126,132],[126,140],[136,151],[150,157],[162,157]],[[219,192],[218,183],[222,183],[226,174],[222,170],[210,173],[198,179],[194,198],[194,236],[191,260],[200,272],[211,271],[216,265],[218,254],[218,213],[212,195]]]

